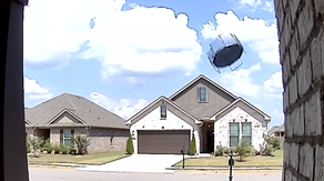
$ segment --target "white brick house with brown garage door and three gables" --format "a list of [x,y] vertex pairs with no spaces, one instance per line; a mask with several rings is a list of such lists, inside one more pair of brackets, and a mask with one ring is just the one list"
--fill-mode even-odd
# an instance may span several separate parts
[[195,135],[199,153],[240,140],[255,149],[263,143],[271,118],[205,76],[199,76],[170,98],[160,97],[126,122],[135,153],[189,151]]

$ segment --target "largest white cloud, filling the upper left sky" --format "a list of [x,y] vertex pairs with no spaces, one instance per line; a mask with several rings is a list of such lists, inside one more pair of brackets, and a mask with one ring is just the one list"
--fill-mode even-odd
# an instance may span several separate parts
[[[202,54],[188,16],[166,8],[130,4],[124,0],[30,0],[24,20],[24,61],[29,64],[67,64],[71,52],[89,40],[79,54],[102,63],[102,77],[115,74],[190,74]],[[59,13],[58,13],[59,11]],[[95,17],[94,27],[88,23]]]

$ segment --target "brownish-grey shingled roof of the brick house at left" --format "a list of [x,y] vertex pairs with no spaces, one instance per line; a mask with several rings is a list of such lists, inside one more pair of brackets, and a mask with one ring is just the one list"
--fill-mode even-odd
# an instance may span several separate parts
[[33,108],[26,109],[26,120],[34,127],[51,124],[62,113],[69,113],[88,127],[129,129],[124,119],[97,103],[71,93],[62,93]]

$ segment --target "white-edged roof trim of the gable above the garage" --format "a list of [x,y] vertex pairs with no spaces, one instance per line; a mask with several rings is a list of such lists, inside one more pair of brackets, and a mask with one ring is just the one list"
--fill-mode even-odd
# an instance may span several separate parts
[[138,113],[135,113],[133,117],[131,117],[126,121],[126,124],[131,124],[132,121],[135,118],[138,118],[139,115],[141,115],[142,113],[144,113],[148,109],[150,109],[151,107],[153,107],[155,103],[158,103],[161,100],[165,101],[166,103],[171,104],[172,107],[174,107],[175,109],[178,109],[179,111],[181,111],[182,113],[184,113],[185,115],[188,115],[189,118],[191,118],[192,120],[194,120],[195,123],[202,123],[201,121],[196,120],[194,117],[192,117],[191,114],[189,114],[186,111],[184,111],[182,108],[180,108],[178,104],[175,104],[173,101],[170,101],[170,99],[168,99],[166,97],[161,95],[158,99],[155,99],[154,101],[152,101],[150,104],[148,104],[145,108],[143,108],[141,111],[139,111]]

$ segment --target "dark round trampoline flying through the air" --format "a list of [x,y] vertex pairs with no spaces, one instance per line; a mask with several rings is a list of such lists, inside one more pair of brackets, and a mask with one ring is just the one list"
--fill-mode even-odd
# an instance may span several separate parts
[[[222,68],[230,67],[232,71],[240,68],[243,62],[240,60],[244,49],[236,36],[220,34],[214,41],[210,44],[211,49],[207,52],[207,58],[212,67],[221,73]],[[232,68],[233,63],[237,66]]]

